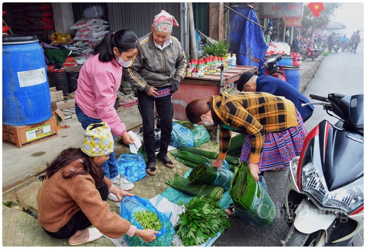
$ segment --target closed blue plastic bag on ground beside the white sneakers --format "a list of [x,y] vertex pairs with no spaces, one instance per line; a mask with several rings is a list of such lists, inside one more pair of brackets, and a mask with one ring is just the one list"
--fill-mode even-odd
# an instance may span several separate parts
[[120,174],[131,183],[141,180],[146,175],[146,164],[140,152],[122,154],[116,163]]

